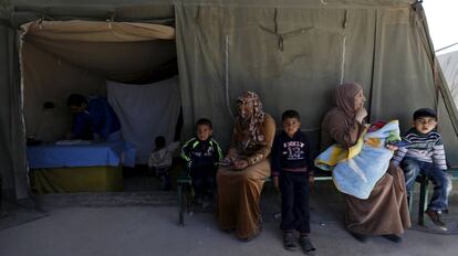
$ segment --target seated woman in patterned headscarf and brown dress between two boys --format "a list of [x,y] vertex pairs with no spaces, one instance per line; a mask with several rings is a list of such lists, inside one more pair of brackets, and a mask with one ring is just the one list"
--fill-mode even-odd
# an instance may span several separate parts
[[223,231],[236,231],[241,241],[261,232],[260,195],[270,177],[270,153],[275,122],[266,114],[256,93],[244,92],[237,99],[236,118],[228,156],[217,172],[218,222]]

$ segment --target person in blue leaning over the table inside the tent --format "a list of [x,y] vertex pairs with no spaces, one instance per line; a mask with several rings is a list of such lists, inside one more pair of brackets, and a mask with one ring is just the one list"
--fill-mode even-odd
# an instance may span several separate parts
[[74,114],[70,139],[121,139],[121,122],[105,97],[84,97],[72,94],[66,105]]

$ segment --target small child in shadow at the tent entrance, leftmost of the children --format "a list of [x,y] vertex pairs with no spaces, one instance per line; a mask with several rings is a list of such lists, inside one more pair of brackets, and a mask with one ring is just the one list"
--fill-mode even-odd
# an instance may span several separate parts
[[156,175],[163,180],[162,190],[170,190],[171,183],[168,175],[168,169],[171,167],[174,151],[177,150],[179,142],[173,142],[166,147],[164,136],[158,136],[154,140],[155,149],[149,153],[148,167],[153,169]]

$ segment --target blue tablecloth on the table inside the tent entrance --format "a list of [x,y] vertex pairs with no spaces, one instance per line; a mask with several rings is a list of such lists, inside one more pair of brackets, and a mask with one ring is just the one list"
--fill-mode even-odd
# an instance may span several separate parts
[[30,168],[135,167],[135,146],[127,141],[89,145],[40,145],[27,148]]

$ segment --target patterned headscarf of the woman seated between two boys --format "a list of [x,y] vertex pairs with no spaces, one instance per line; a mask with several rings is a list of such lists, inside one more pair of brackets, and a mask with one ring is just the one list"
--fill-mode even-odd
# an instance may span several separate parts
[[253,113],[248,120],[244,120],[240,116],[238,117],[238,122],[240,125],[240,134],[243,135],[241,143],[243,149],[249,148],[250,145],[264,142],[266,137],[262,129],[262,124],[264,121],[266,113],[262,109],[262,103],[259,99],[259,96],[253,92],[243,92],[238,98],[238,103],[252,103]]

